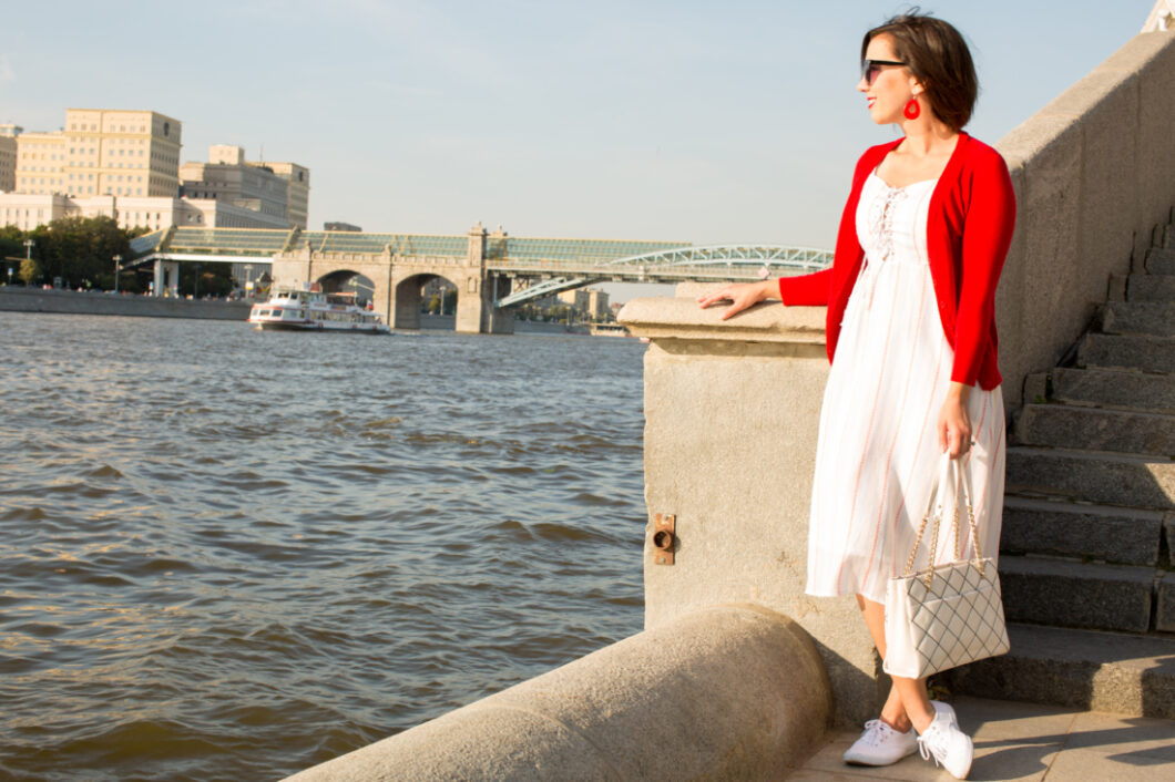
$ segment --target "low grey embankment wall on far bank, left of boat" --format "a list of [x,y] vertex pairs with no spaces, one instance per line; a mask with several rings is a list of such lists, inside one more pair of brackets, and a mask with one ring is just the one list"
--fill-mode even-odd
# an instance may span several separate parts
[[79,292],[42,288],[0,286],[0,310],[59,312],[63,315],[121,315],[146,318],[246,321],[251,302],[223,299],[155,298],[102,291]]

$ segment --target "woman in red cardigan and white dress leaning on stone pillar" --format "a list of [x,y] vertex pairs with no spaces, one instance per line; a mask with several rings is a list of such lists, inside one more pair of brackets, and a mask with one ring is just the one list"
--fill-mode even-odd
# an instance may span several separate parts
[[[978,81],[954,27],[895,16],[865,34],[861,65],[870,116],[900,124],[904,137],[858,162],[832,268],[698,302],[731,301],[723,319],[772,298],[827,305],[832,369],[806,591],[855,594],[885,658],[886,581],[901,574],[945,452],[971,477],[983,555],[998,551],[1005,418],[994,298],[1015,196],[999,153],[962,132]],[[949,535],[940,544],[938,561],[956,558]],[[887,766],[915,749],[956,778],[971,769],[973,744],[951,707],[929,700],[925,680],[894,676],[880,719],[845,761]]]

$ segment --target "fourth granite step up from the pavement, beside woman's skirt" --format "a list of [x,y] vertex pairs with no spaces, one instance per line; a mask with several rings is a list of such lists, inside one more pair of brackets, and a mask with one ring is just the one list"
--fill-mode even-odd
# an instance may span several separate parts
[[1007,450],[1007,493],[1156,511],[1175,510],[1175,461],[1036,445]]

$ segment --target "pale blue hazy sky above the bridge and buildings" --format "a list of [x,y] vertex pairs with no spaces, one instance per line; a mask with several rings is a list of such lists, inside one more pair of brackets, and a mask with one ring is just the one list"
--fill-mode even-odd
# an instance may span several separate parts
[[[994,143],[1154,0],[944,0]],[[861,36],[906,4],[237,0],[13,4],[0,122],[153,109],[310,168],[310,228],[828,248],[860,151]]]

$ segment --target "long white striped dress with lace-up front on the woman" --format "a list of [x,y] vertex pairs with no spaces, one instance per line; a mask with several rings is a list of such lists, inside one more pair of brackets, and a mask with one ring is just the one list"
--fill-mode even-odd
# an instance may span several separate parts
[[[936,180],[891,188],[875,173],[857,209],[865,262],[841,321],[820,412],[806,592],[885,602],[900,575],[942,464],[935,425],[954,351],[942,332],[926,252]],[[1003,396],[976,384],[967,402],[975,445],[971,476],[983,557],[996,557],[1003,510]],[[966,517],[964,555],[971,555]],[[936,561],[951,553],[949,527]],[[915,569],[925,567],[927,544]]]

